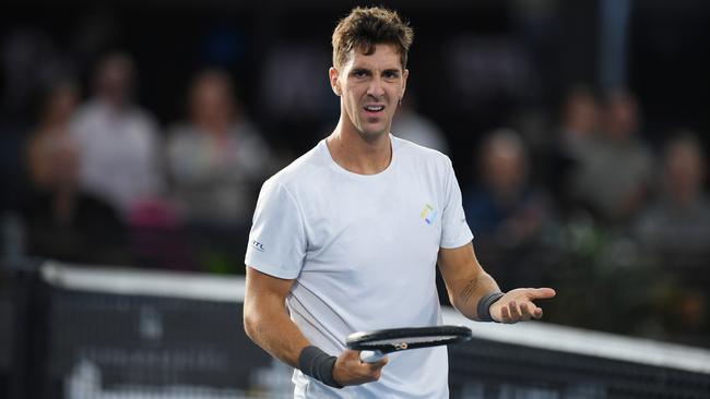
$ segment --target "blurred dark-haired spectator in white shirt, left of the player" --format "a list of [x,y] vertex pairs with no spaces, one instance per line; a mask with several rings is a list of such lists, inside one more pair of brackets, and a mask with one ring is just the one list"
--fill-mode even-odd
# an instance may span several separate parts
[[81,184],[121,210],[123,217],[163,190],[161,142],[154,119],[132,102],[134,66],[120,52],[103,58],[93,97],[76,112]]

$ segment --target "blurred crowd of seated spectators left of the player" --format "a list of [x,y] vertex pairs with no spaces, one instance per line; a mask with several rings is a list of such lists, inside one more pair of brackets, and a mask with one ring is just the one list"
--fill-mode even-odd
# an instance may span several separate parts
[[4,192],[3,208],[20,221],[11,228],[20,230],[21,251],[73,263],[237,271],[256,194],[276,170],[269,145],[240,111],[224,70],[196,74],[185,120],[168,126],[134,102],[134,60],[108,53],[87,98],[75,81],[54,80],[31,128],[2,135],[3,147],[19,153],[7,168],[14,190]]

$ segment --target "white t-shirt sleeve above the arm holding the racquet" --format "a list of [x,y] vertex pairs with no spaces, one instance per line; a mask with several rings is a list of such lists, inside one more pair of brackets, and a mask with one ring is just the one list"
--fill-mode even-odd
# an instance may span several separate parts
[[245,263],[261,273],[295,279],[306,254],[301,214],[287,189],[269,180],[261,188]]

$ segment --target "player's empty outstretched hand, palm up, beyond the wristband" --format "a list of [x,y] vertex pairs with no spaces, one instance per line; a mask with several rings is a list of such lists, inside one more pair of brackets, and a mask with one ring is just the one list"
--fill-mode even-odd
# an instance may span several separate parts
[[543,310],[537,307],[533,301],[553,297],[555,297],[555,290],[552,288],[518,288],[506,292],[490,305],[490,316],[498,323],[507,324],[541,318]]

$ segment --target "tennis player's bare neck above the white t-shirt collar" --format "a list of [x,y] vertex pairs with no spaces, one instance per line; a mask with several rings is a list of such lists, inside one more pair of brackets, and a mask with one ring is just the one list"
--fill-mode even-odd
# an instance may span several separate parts
[[364,137],[354,128],[347,129],[343,121],[326,140],[330,155],[343,169],[357,174],[377,174],[392,161],[390,135]]

